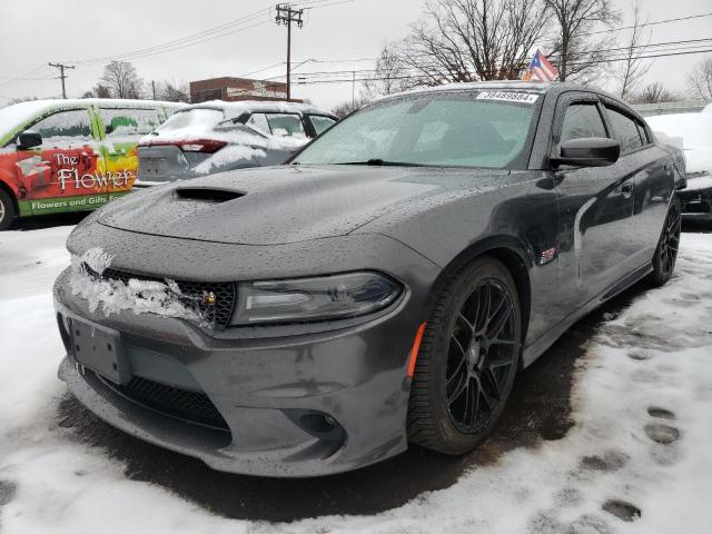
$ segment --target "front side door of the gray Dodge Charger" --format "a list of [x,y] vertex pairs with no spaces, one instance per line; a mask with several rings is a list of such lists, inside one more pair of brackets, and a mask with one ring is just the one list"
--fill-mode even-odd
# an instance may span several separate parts
[[[603,108],[593,93],[560,97],[552,157],[570,139],[611,137]],[[609,167],[562,166],[554,169],[560,195],[561,295],[576,309],[624,276],[631,260],[622,243],[632,230],[633,179],[619,164]]]

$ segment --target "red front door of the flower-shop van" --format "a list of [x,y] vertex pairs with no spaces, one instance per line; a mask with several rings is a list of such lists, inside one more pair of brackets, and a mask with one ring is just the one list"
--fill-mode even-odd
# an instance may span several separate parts
[[33,215],[106,204],[95,130],[87,108],[56,110],[26,128],[42,138],[41,146],[18,150],[18,177]]

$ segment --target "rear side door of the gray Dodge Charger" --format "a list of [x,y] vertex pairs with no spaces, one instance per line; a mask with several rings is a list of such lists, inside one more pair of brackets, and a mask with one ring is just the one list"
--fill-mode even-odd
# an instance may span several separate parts
[[633,180],[633,219],[627,238],[622,240],[634,269],[650,261],[657,246],[662,224],[674,190],[669,155],[653,144],[645,125],[612,100],[604,102],[606,121],[621,144],[616,166]]

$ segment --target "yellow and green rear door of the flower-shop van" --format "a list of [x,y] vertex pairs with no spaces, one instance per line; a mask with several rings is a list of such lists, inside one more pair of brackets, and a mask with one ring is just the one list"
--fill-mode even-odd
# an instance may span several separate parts
[[161,123],[157,108],[99,106],[102,171],[108,199],[131,190],[138,174],[139,140]]

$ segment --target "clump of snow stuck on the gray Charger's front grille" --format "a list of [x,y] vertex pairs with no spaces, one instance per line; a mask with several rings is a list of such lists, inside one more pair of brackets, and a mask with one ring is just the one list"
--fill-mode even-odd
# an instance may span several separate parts
[[71,258],[71,293],[87,300],[92,314],[101,309],[108,317],[119,312],[131,312],[136,315],[154,314],[205,324],[197,307],[187,305],[190,299],[182,295],[174,280],[161,283],[130,278],[125,284],[121,280],[100,278],[112,259],[112,256],[100,248],[91,248],[81,256]]

